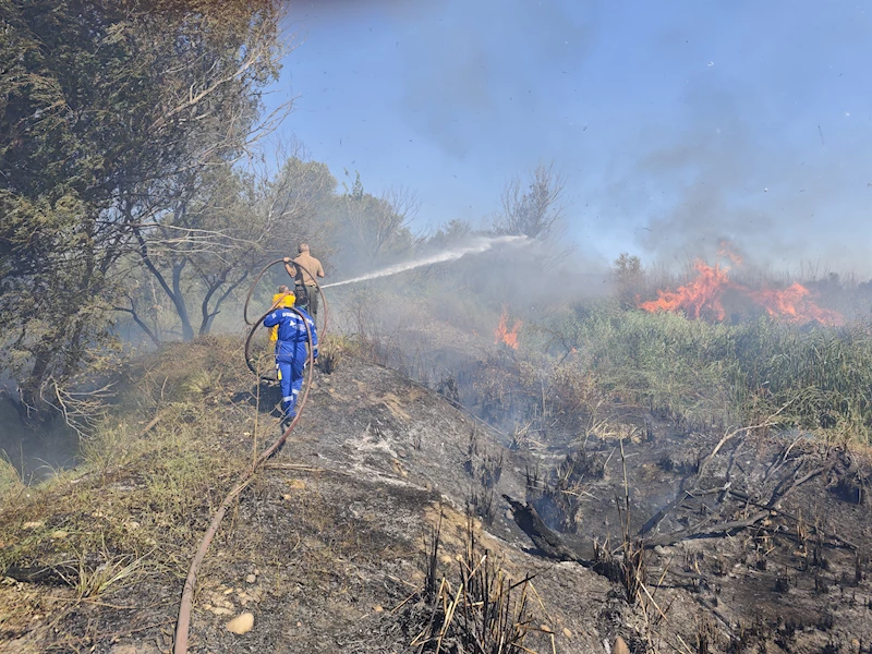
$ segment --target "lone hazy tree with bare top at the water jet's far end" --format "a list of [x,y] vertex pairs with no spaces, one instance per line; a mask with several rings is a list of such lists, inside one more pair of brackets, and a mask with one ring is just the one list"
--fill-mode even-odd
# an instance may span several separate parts
[[494,221],[500,234],[524,235],[545,241],[557,238],[564,213],[560,199],[566,182],[554,164],[540,164],[530,174],[526,189],[520,178],[509,180],[499,197],[501,214]]

